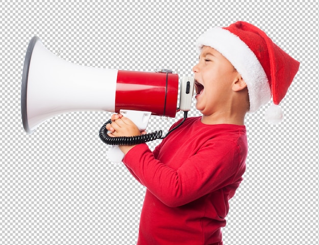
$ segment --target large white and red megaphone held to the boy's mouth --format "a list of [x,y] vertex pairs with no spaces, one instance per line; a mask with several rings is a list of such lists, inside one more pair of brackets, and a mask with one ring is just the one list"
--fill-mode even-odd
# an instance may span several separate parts
[[31,134],[47,119],[69,112],[125,110],[125,113],[142,112],[138,115],[142,122],[139,128],[143,130],[148,122],[143,118],[145,115],[175,117],[178,110],[190,110],[194,79],[183,77],[182,82],[177,108],[178,74],[168,70],[139,72],[73,64],[54,55],[40,38],[33,37],[22,73],[23,128]]

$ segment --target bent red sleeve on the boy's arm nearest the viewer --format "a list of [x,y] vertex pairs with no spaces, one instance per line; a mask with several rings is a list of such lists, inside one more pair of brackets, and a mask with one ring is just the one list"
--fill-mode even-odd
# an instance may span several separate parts
[[[125,166],[148,190],[171,207],[190,203],[233,182],[240,170],[240,151],[235,143],[209,141],[180,168],[157,160],[146,144],[132,148]],[[241,173],[242,174],[242,173]]]

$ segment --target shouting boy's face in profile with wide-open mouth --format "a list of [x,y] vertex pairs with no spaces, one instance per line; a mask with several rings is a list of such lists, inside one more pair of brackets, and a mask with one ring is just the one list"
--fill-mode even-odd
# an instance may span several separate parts
[[195,73],[196,108],[203,115],[225,110],[231,101],[232,85],[240,74],[216,49],[203,46]]

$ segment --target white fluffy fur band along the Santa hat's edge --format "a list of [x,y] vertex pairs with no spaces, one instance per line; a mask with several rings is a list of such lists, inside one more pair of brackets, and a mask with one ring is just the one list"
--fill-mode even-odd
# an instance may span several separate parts
[[199,52],[203,46],[215,48],[242,75],[248,88],[250,113],[269,102],[271,90],[267,75],[254,52],[239,37],[216,27],[202,34],[197,39],[196,46]]

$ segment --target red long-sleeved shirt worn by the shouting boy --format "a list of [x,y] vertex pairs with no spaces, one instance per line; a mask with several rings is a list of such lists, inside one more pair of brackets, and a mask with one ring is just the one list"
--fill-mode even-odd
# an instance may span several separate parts
[[147,187],[139,245],[223,244],[228,200],[246,169],[246,127],[200,120],[185,120],[153,152],[140,144],[123,159]]

